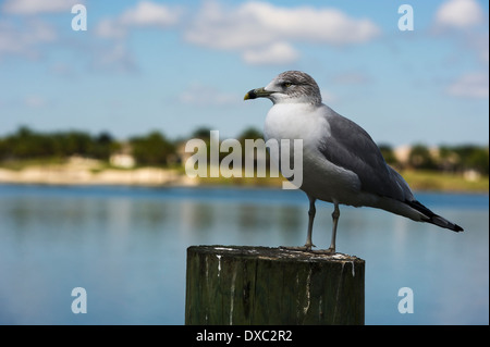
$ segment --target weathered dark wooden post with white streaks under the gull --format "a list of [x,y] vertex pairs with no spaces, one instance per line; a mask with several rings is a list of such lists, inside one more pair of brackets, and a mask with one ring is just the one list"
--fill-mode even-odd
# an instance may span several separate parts
[[186,324],[364,324],[363,259],[267,247],[187,249]]

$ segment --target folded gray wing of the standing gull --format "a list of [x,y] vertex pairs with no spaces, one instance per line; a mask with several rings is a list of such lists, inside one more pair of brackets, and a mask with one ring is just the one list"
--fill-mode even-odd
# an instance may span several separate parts
[[331,136],[326,137],[320,146],[327,160],[354,172],[365,191],[400,201],[413,200],[408,184],[385,163],[369,134],[356,123],[329,111],[326,117]]

